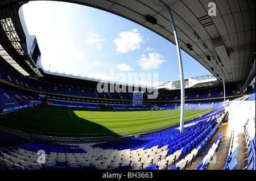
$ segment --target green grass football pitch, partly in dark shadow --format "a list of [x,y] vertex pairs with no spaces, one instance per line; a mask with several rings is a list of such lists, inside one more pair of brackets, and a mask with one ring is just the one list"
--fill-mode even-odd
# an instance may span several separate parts
[[[184,120],[212,110],[185,110]],[[102,110],[41,105],[0,118],[19,131],[60,137],[102,137],[135,134],[179,124],[180,110]]]

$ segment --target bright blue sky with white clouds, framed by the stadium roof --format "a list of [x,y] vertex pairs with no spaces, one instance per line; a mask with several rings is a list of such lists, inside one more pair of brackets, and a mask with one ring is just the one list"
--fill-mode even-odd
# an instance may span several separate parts
[[[102,10],[64,2],[23,5],[30,35],[36,35],[45,70],[119,81],[117,73],[150,75],[154,86],[180,79],[176,46],[154,32]],[[181,52],[184,78],[211,75]],[[111,74],[111,72],[114,75]],[[158,74],[158,79],[153,74]],[[149,83],[139,79],[139,84]]]

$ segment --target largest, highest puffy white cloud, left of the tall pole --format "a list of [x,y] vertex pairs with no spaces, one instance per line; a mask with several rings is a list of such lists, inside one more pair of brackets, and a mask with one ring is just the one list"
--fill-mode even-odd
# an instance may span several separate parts
[[118,39],[113,40],[115,45],[117,45],[116,51],[118,53],[127,53],[138,49],[143,43],[142,36],[139,34],[139,31],[133,28],[131,31],[123,31],[118,33]]

